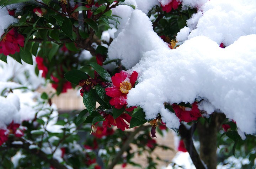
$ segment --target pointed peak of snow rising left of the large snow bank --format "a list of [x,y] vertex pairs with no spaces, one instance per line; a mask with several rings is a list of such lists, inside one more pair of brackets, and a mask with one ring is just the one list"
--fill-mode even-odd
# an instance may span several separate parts
[[108,59],[121,59],[127,69],[135,66],[146,51],[165,45],[153,31],[149,18],[140,10],[132,12],[125,28],[108,48]]

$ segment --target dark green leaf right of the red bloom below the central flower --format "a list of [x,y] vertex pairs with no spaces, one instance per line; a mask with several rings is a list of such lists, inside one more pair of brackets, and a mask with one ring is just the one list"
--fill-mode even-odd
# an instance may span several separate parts
[[130,121],[130,129],[148,122],[148,120],[146,120],[145,117],[146,115],[145,112],[143,112],[142,108],[134,112],[132,115],[132,119]]

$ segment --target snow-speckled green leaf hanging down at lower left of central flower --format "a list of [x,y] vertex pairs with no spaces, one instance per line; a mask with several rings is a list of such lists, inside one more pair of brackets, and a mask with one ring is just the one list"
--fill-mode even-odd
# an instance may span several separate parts
[[84,92],[83,102],[90,114],[96,108],[96,101],[97,101],[97,93],[95,89],[91,89],[89,92]]

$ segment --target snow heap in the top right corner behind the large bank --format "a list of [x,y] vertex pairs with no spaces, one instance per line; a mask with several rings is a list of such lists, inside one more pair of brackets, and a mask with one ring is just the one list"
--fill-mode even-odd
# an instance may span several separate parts
[[[188,20],[188,27],[191,29],[188,39],[203,35],[218,44],[223,43],[228,46],[233,44],[240,36],[256,34],[255,9],[255,0],[207,1],[203,6],[203,15],[199,11],[199,14],[193,15]],[[201,15],[202,17],[198,19],[198,16]],[[197,25],[196,29],[193,26],[195,24]],[[184,30],[181,30],[180,34],[182,32],[187,34]]]

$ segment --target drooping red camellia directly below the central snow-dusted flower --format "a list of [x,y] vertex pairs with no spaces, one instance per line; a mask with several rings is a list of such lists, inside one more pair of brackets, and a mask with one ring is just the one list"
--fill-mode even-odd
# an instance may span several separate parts
[[[130,117],[129,114],[123,113],[116,119],[114,119],[113,116],[105,112],[102,112],[101,114],[105,119],[105,121],[103,121],[102,123],[102,126],[104,128],[102,131],[103,134],[105,134],[107,131],[107,128],[111,127],[112,125],[117,126],[117,128],[121,129],[122,131],[124,131],[125,129],[129,129],[129,125],[126,123],[126,122],[130,123],[130,120],[132,119],[132,117]],[[126,120],[126,122],[124,122],[124,120]]]

